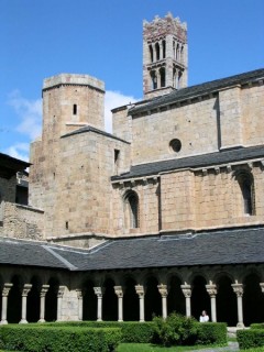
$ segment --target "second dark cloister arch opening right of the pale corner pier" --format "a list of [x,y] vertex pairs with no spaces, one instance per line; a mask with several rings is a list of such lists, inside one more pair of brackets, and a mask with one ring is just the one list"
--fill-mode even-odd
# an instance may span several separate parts
[[110,277],[107,277],[103,283],[102,320],[118,320],[118,297],[114,293],[114,280]]

